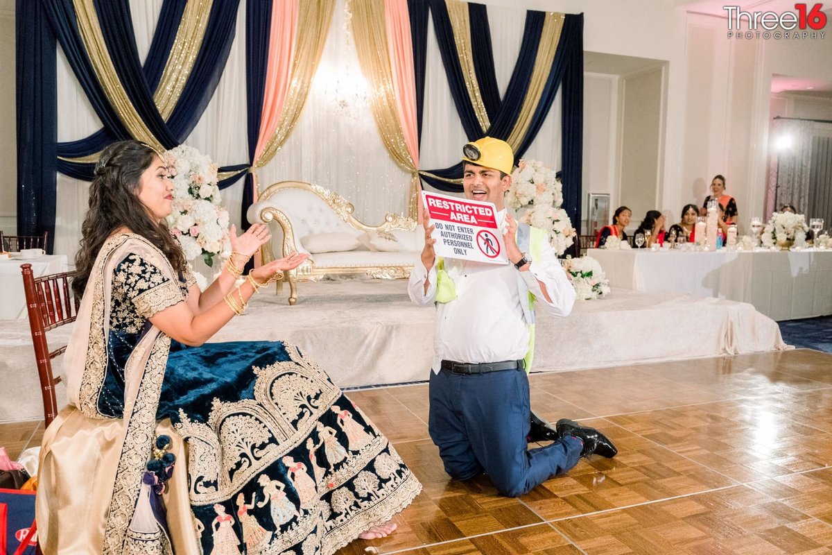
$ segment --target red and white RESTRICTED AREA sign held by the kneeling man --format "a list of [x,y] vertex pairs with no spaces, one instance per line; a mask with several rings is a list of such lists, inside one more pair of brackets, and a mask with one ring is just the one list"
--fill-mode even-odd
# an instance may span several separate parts
[[455,196],[422,191],[436,255],[445,258],[508,264],[503,234],[497,225],[497,209],[491,202],[468,201]]

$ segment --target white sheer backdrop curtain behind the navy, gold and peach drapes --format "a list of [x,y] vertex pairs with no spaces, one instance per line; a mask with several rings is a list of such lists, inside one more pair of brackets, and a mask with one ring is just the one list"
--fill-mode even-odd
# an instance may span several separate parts
[[[161,0],[131,0],[136,43],[146,57],[161,11]],[[355,48],[345,26],[346,4],[336,3],[329,37],[304,111],[285,146],[258,170],[260,186],[277,181],[310,181],[337,191],[355,206],[355,216],[381,223],[388,212],[407,210],[409,174],[390,158],[367,102]],[[501,94],[517,62],[526,12],[488,6],[494,64]],[[424,169],[458,161],[467,138],[448,90],[433,23],[428,59],[420,152]],[[62,52],[58,57],[58,141],[74,141],[101,127]],[[245,0],[240,2],[235,39],[214,97],[186,143],[220,165],[245,163]],[[526,158],[560,169],[560,101],[556,99]],[[55,251],[74,257],[87,211],[89,184],[58,174]],[[222,191],[231,222],[240,226],[243,180]]]

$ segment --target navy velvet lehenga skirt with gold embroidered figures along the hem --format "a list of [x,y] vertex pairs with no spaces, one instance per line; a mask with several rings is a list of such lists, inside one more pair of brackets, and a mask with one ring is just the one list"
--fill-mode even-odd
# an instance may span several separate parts
[[334,553],[421,489],[384,435],[289,344],[174,343],[157,417],[186,440],[204,553]]

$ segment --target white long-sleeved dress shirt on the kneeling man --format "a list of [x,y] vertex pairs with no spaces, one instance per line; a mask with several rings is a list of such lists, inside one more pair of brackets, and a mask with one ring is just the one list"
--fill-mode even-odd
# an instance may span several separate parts
[[[505,214],[505,210],[497,214],[501,226]],[[539,260],[532,260],[527,271],[521,272],[510,263],[496,265],[449,258],[444,259],[444,268],[453,280],[457,299],[436,305],[434,372],[439,371],[443,359],[481,363],[525,357],[527,324],[533,323],[533,320],[527,322],[528,316],[523,310],[527,291],[532,291],[552,315],[569,315],[575,302],[575,289],[548,243],[542,245]],[[414,265],[408,293],[416,305],[434,302],[436,273],[435,262],[429,272],[421,260]],[[424,290],[426,278],[429,280],[427,292]],[[542,294],[538,280],[546,285],[551,303]]]

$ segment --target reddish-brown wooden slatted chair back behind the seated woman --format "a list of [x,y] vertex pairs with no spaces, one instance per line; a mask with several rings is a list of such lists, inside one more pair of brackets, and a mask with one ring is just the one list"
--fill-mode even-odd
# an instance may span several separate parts
[[21,265],[23,290],[29,312],[29,327],[32,330],[32,344],[35,348],[37,375],[41,382],[43,397],[43,418],[48,426],[57,416],[57,397],[55,385],[61,382],[61,376],[52,373],[52,359],[62,354],[67,345],[49,350],[47,331],[64,324],[74,322],[78,303],[72,296],[72,279],[76,272],[42,275],[32,274],[32,265]]

